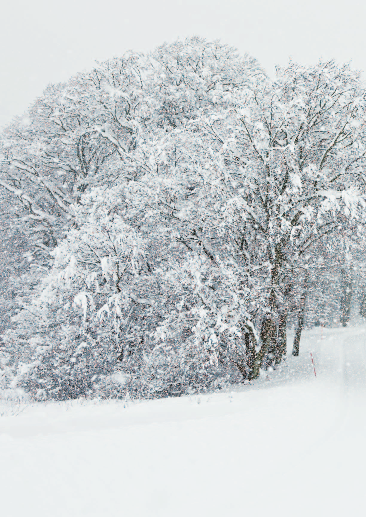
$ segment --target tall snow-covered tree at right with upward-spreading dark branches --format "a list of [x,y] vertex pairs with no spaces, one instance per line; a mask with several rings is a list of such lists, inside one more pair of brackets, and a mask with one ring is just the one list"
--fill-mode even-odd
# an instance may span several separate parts
[[339,228],[339,212],[347,220],[363,215],[365,94],[358,74],[333,62],[290,63],[274,83],[243,94],[231,149],[245,171],[241,207],[269,265],[255,377],[275,341],[289,279],[311,265],[314,244]]

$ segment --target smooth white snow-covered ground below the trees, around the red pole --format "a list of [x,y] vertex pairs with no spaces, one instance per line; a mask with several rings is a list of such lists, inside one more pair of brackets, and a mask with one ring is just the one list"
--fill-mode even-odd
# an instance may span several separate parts
[[0,514],[363,517],[365,342],[316,328],[270,381],[199,397],[0,405]]

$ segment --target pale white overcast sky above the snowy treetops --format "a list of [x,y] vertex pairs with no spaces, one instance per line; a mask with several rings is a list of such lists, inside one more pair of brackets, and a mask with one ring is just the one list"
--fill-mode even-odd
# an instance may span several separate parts
[[366,70],[366,4],[360,0],[11,0],[0,19],[0,126],[22,114],[48,83],[93,60],[150,51],[198,35],[256,57],[267,73],[289,56],[352,59]]

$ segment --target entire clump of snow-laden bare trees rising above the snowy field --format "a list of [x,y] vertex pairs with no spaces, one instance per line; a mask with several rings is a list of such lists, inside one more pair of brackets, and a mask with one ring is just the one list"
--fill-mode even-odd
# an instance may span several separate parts
[[48,267],[3,377],[39,399],[212,389],[279,364],[297,317],[298,353],[317,280],[349,293],[361,267],[365,95],[348,65],[272,81],[199,38],[47,88],[2,135],[7,217]]

